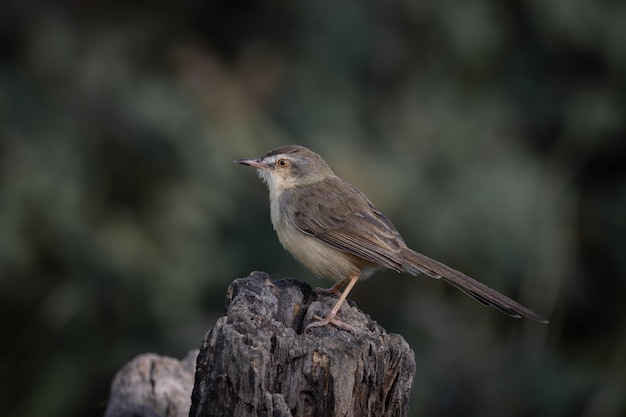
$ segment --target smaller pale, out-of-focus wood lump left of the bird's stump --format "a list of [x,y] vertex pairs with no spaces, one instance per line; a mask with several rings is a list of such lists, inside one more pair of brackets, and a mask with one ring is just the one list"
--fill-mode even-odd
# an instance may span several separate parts
[[182,361],[154,353],[137,356],[113,379],[105,417],[189,415],[197,356],[197,349]]

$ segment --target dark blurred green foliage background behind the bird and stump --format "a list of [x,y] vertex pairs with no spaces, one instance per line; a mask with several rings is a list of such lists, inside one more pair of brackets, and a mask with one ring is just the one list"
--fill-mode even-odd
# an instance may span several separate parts
[[551,320],[357,285],[415,350],[411,416],[624,416],[625,114],[624,2],[3,1],[0,415],[102,415],[250,271],[328,286],[230,162],[298,143]]

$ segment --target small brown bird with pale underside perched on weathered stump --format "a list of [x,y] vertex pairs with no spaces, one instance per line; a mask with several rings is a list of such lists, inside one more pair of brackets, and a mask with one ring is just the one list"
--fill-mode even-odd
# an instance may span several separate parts
[[323,291],[340,295],[339,300],[325,319],[316,317],[307,329],[328,324],[349,329],[335,318],[341,304],[359,278],[382,268],[442,279],[504,314],[548,323],[496,290],[409,249],[365,194],[337,177],[315,152],[289,145],[260,159],[235,162],[257,168],[267,184],[272,224],[283,247],[316,275],[336,282]]

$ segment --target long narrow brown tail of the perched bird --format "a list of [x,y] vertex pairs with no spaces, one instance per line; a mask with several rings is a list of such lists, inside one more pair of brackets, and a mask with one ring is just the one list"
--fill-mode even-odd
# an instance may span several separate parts
[[540,323],[548,323],[548,320],[506,295],[500,294],[498,291],[441,262],[437,262],[408,248],[402,251],[402,255],[405,260],[404,269],[412,275],[423,273],[436,279],[443,279],[475,298],[478,302],[497,308],[504,314],[517,318],[527,317]]

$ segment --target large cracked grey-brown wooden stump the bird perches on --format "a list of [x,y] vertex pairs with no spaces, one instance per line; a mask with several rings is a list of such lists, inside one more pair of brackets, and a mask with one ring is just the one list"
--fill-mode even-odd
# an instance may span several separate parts
[[198,355],[190,417],[406,416],[415,360],[402,337],[346,305],[354,333],[303,334],[335,301],[261,272],[233,282]]

